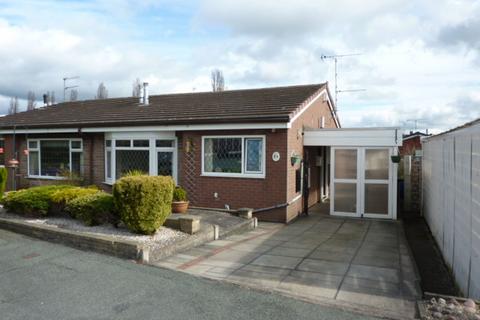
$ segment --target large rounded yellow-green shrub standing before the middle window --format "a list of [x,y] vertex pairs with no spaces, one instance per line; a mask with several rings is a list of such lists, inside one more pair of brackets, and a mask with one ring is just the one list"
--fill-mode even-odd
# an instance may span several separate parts
[[171,213],[174,187],[171,177],[123,177],[113,185],[115,208],[130,231],[153,234]]

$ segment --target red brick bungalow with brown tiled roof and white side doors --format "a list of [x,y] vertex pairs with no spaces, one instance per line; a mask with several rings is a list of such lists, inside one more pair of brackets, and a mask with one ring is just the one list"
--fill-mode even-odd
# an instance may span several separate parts
[[397,129],[355,130],[340,129],[327,83],[152,96],[145,84],[140,99],[0,118],[10,189],[67,171],[109,190],[137,169],[171,175],[194,206],[251,207],[266,221],[289,222],[330,196],[332,214],[395,218]]

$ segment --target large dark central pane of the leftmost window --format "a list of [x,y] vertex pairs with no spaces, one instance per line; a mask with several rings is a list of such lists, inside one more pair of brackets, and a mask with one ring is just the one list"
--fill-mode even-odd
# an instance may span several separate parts
[[40,141],[40,159],[42,176],[59,176],[62,171],[69,170],[70,141]]

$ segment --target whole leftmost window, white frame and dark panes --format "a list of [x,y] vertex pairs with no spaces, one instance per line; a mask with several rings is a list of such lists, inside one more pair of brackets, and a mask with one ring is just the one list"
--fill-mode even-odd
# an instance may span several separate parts
[[63,179],[83,174],[82,139],[28,139],[28,176]]

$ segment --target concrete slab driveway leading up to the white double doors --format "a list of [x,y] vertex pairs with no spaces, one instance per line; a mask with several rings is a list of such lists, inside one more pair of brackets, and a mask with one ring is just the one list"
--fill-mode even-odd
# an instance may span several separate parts
[[260,223],[157,265],[395,318],[412,318],[421,294],[398,221],[316,213],[290,225]]

